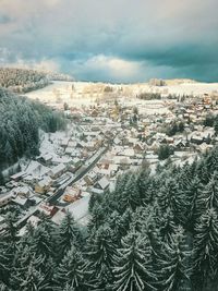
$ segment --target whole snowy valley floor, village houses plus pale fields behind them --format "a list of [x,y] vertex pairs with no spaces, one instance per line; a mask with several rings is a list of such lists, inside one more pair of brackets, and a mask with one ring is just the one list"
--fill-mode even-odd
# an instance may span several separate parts
[[[39,213],[60,225],[70,211],[87,226],[90,196],[113,191],[122,173],[142,165],[155,173],[166,162],[192,162],[216,145],[216,88],[198,83],[158,87],[55,82],[27,93],[62,110],[68,125],[56,133],[40,131],[40,155],[16,162],[1,186],[0,205],[17,205],[21,235],[26,222],[38,223]],[[141,99],[144,94],[157,99]],[[3,231],[4,217],[0,220]]]

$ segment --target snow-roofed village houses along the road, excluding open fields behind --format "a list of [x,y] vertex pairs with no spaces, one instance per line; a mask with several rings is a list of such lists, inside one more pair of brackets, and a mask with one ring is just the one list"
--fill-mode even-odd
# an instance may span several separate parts
[[37,225],[39,213],[60,223],[71,211],[86,225],[90,195],[112,191],[118,175],[143,162],[154,169],[161,145],[172,148],[172,162],[193,160],[213,147],[218,141],[216,131],[204,121],[217,112],[210,96],[152,104],[114,98],[65,109],[69,129],[41,133],[40,155],[21,165],[1,189],[0,231],[4,228],[1,209],[11,204],[21,210],[21,233],[24,221]]

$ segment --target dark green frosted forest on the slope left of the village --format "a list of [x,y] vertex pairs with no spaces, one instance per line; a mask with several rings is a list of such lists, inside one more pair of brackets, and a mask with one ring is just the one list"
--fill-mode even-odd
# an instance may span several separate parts
[[38,130],[64,128],[62,114],[37,101],[0,88],[0,170],[17,158],[38,154]]

